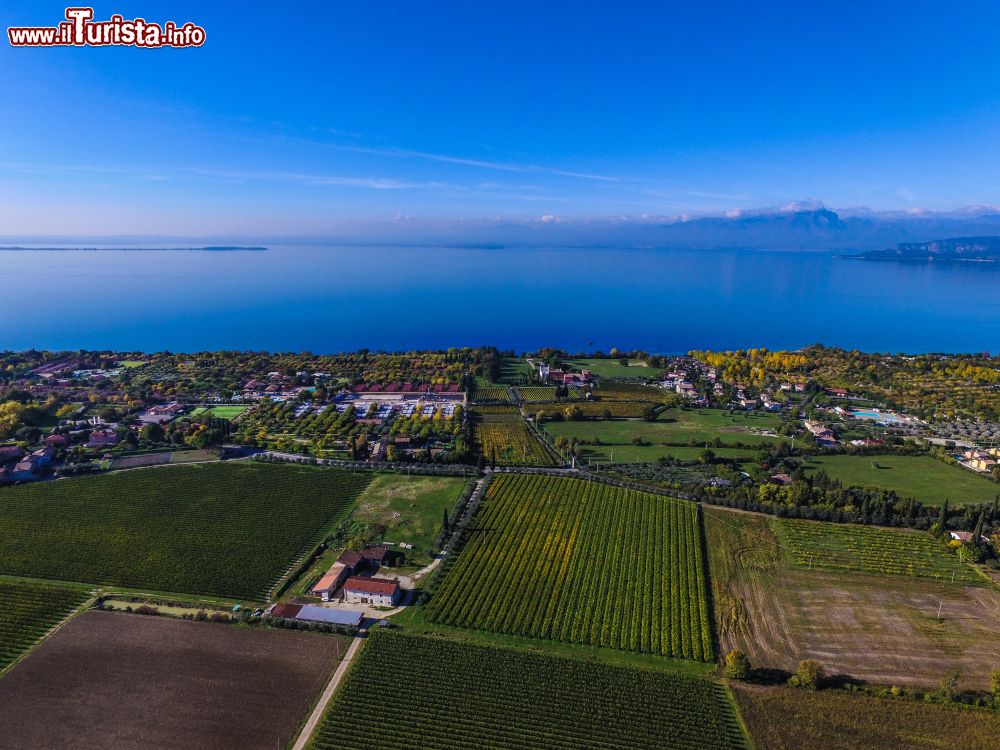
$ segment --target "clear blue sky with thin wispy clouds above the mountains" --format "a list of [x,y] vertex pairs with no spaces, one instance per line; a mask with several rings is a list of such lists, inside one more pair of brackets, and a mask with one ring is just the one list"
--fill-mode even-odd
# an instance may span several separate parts
[[207,42],[4,40],[0,234],[1000,203],[995,2],[94,8]]

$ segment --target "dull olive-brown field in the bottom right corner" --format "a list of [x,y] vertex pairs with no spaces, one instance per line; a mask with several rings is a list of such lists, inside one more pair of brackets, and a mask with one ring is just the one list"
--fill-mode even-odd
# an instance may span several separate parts
[[833,690],[734,685],[757,750],[996,746],[1000,715]]

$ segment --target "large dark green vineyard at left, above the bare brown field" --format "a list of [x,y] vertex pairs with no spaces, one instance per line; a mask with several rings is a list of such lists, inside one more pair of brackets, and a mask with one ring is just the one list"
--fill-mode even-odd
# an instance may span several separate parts
[[0,571],[259,599],[370,475],[205,464],[0,490]]

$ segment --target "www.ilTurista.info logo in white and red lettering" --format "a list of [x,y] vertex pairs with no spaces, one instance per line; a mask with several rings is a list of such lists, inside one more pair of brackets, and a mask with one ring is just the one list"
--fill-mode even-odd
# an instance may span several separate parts
[[161,25],[118,14],[95,21],[93,8],[67,8],[58,26],[11,26],[7,37],[12,47],[200,47],[205,30],[193,23]]

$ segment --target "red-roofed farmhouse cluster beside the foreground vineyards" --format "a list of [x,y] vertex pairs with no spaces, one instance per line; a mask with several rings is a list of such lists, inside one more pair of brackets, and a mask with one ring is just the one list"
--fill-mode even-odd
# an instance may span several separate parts
[[360,552],[346,550],[312,587],[312,593],[324,602],[334,601],[339,592],[339,598],[348,604],[393,607],[399,603],[399,581],[361,574],[392,567],[399,561],[399,553],[384,544],[371,545]]

